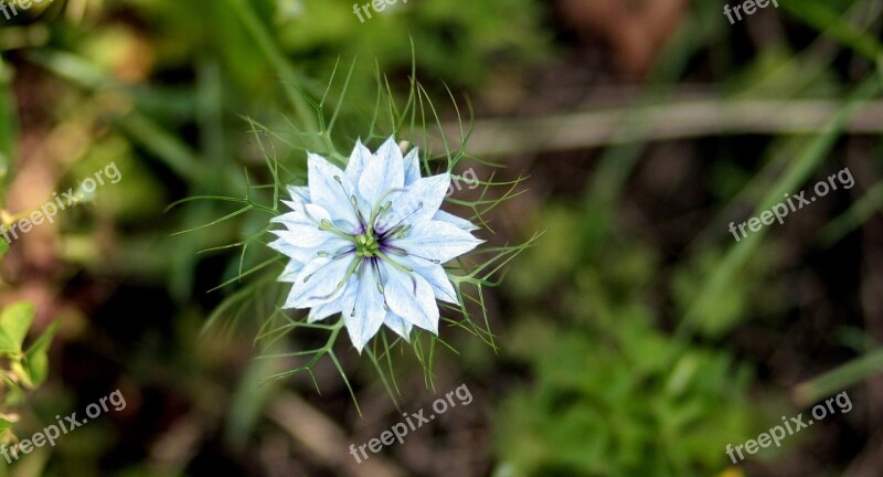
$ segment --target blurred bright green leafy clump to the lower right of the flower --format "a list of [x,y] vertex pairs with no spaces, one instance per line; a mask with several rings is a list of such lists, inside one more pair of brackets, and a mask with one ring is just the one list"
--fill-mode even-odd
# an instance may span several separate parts
[[[657,329],[659,317],[642,294],[653,286],[659,257],[646,245],[614,242],[591,261],[556,258],[578,256],[579,235],[570,224],[581,216],[550,208],[551,230],[533,262],[510,276],[522,312],[507,351],[536,380],[494,411],[500,475],[720,470],[731,436],[756,434],[752,371],[730,350]],[[541,280],[535,269],[543,269]],[[552,321],[550,311],[567,320]]]

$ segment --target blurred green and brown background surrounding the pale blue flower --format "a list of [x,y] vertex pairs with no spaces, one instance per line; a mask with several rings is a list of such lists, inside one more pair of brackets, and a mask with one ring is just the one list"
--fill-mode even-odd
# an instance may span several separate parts
[[[880,475],[883,4],[779,0],[734,24],[722,7],[411,0],[363,22],[342,0],[0,11],[3,223],[111,162],[121,176],[0,262],[0,303],[34,306],[24,342],[60,322],[42,385],[44,341],[26,357],[21,339],[0,350],[11,367],[0,423],[14,421],[3,442],[115,390],[126,400],[1,471]],[[279,269],[240,277],[272,256],[255,239],[267,216],[219,201],[167,206],[254,186],[268,204],[267,157],[302,180],[307,148],[377,147],[393,129],[372,121],[386,107],[379,84],[405,102],[414,72],[440,129],[458,144],[470,128],[457,169],[526,177],[511,191],[462,188],[449,204],[493,205],[479,232],[492,246],[543,233],[483,294],[497,348],[443,327],[457,352],[435,350],[427,386],[411,351],[396,351],[392,400],[345,340],[347,382],[328,359],[267,381],[305,363],[259,356],[323,343],[273,328]],[[438,129],[400,139],[438,153]],[[731,222],[844,168],[853,188],[733,240]],[[210,320],[221,325],[202,331]],[[353,460],[350,444],[461,384],[472,403]],[[727,444],[844,391],[849,413],[727,457]]]

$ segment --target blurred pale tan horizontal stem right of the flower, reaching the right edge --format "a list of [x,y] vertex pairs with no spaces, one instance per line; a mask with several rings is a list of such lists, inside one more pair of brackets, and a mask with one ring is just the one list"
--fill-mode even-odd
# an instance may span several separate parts
[[[692,98],[646,106],[643,138],[674,140],[721,135],[817,134],[840,106],[836,99]],[[469,138],[471,152],[483,156],[551,152],[628,144],[620,131],[630,127],[632,106],[598,112],[555,114],[536,118],[479,119]],[[458,124],[445,125],[456,137]],[[860,105],[843,126],[850,134],[883,132],[883,100]]]

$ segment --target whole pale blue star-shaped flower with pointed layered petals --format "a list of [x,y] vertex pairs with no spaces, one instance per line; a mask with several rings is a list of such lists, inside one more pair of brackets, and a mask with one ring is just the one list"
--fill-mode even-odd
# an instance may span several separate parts
[[381,325],[438,335],[436,299],[459,305],[442,265],[482,242],[439,210],[449,186],[422,178],[417,150],[402,157],[392,137],[373,155],[357,141],[345,170],[310,153],[308,186],[289,187],[291,212],[273,219],[286,229],[270,246],[291,258],[283,308],[311,308],[310,322],[342,314],[360,352]]

